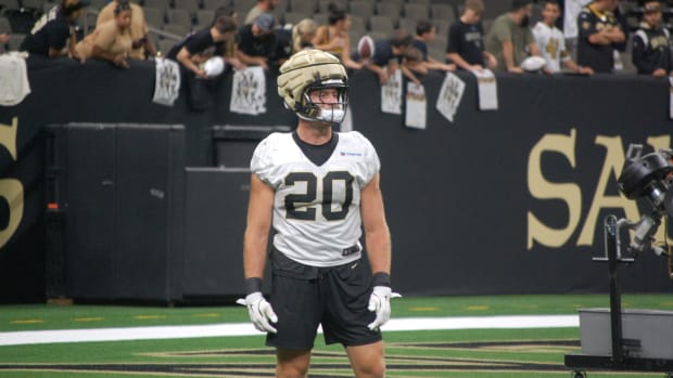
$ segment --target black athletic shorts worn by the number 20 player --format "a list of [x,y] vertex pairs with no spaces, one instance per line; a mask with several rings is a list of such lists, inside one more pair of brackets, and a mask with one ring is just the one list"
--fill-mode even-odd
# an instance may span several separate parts
[[381,340],[381,331],[367,327],[376,313],[367,310],[371,272],[361,260],[316,268],[274,250],[271,266],[270,302],[278,315],[278,334],[267,334],[267,346],[313,349],[318,325],[322,325],[327,344],[352,347]]

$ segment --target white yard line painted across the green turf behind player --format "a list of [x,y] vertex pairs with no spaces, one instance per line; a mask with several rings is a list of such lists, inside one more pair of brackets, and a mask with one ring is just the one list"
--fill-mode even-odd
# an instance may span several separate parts
[[[493,329],[493,328],[566,328],[579,327],[579,315],[402,317],[391,320],[383,329]],[[250,323],[226,323],[200,326],[155,326],[94,329],[54,329],[0,333],[0,346],[56,342],[183,339],[262,335]]]

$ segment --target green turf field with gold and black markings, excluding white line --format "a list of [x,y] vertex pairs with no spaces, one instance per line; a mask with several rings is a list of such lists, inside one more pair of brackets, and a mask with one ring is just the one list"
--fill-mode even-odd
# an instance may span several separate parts
[[[624,308],[673,310],[673,295],[625,295]],[[394,317],[576,314],[606,308],[600,296],[402,298]],[[3,305],[1,333],[16,330],[205,325],[246,322],[242,307]],[[670,330],[669,330],[670,333]],[[664,333],[665,334],[665,333]],[[670,335],[669,335],[670,337]],[[385,331],[389,377],[570,377],[563,355],[579,353],[579,328]],[[212,337],[0,347],[0,377],[272,377],[264,338]],[[350,377],[341,347],[318,336],[309,377]],[[588,377],[663,377],[588,372]]]

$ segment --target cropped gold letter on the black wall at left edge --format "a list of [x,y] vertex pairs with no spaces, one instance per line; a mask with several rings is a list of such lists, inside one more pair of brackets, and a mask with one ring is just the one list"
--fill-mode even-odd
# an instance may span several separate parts
[[[0,144],[12,159],[16,161],[16,130],[18,119],[12,118],[12,125],[0,123]],[[0,230],[0,248],[2,248],[18,229],[24,216],[24,185],[16,179],[0,179],[0,197],[9,205],[9,222],[4,230]]]

